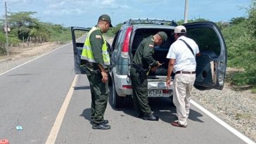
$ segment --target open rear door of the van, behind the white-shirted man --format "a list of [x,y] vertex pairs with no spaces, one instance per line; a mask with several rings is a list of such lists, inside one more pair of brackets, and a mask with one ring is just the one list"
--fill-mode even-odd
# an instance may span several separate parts
[[196,57],[196,81],[199,90],[219,89],[224,86],[226,73],[226,44],[214,22],[184,24],[187,37],[196,41],[201,55]]

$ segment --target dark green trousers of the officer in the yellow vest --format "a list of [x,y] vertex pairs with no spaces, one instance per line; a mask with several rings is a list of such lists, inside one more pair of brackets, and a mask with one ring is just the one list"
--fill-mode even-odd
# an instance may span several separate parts
[[87,70],[87,78],[91,89],[91,122],[102,124],[108,104],[108,82],[104,84],[100,73],[95,74],[89,70]]

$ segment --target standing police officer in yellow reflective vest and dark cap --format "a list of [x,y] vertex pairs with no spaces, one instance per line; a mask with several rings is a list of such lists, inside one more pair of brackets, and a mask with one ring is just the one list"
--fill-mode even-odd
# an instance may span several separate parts
[[108,103],[108,67],[110,56],[107,41],[103,33],[112,27],[109,15],[101,15],[98,25],[93,27],[84,42],[81,59],[86,63],[87,78],[91,88],[91,124],[92,129],[110,129],[103,115]]

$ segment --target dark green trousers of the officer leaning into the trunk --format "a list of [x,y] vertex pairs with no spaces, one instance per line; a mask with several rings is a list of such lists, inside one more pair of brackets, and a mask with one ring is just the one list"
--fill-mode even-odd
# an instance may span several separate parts
[[139,72],[136,72],[134,67],[131,67],[131,79],[133,90],[133,101],[135,110],[144,115],[151,114],[151,107],[148,105],[148,81],[146,76],[141,78]]

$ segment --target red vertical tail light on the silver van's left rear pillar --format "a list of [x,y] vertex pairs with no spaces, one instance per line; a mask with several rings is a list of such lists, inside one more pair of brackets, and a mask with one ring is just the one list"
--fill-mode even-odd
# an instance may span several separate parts
[[128,53],[129,53],[129,42],[130,42],[130,37],[132,33],[132,26],[127,28],[127,31],[125,32],[124,36],[124,44],[122,45],[122,58],[128,58]]

